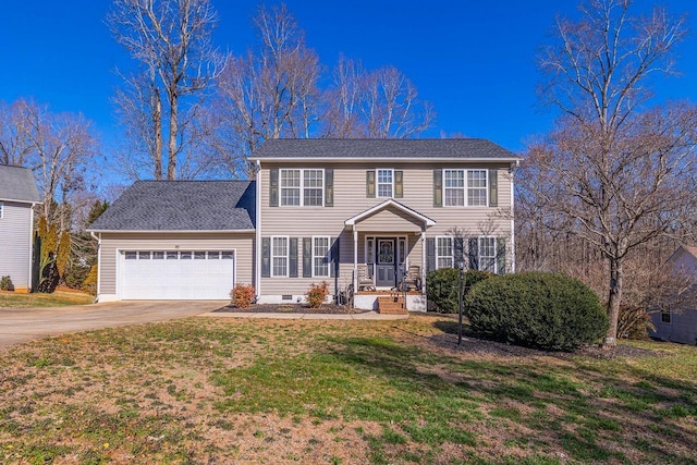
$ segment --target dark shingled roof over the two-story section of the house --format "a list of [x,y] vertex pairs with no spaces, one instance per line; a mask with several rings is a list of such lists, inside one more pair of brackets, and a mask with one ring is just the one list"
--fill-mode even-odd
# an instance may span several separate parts
[[492,142],[462,139],[268,139],[252,154],[252,160],[268,159],[408,159],[515,161],[521,157]]

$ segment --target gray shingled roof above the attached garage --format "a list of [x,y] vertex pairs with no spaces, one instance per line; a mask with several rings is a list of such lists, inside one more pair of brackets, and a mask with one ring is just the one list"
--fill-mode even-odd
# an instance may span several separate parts
[[137,181],[88,231],[252,231],[253,181]]

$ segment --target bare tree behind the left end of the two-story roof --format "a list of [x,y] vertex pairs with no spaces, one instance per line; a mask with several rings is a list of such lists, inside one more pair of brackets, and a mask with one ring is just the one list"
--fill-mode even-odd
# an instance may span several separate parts
[[247,176],[247,156],[264,140],[309,137],[319,117],[317,54],[285,5],[260,7],[256,51],[231,60],[211,107],[216,150],[235,176]]

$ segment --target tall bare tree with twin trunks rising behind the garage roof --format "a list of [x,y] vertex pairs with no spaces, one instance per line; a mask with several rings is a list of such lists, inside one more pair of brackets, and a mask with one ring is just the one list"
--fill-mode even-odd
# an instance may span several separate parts
[[[195,107],[224,68],[212,47],[216,12],[209,0],[114,0],[108,23],[117,41],[143,68],[125,78],[127,90],[117,96],[127,135],[140,155],[147,154],[156,179],[181,178],[179,158],[195,155],[186,146],[195,140],[187,133],[198,114]],[[184,105],[186,97],[193,99]]]

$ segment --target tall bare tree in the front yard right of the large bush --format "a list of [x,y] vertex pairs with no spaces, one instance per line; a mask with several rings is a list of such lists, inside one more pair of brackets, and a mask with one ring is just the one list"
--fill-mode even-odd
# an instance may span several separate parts
[[685,35],[664,10],[632,14],[631,0],[588,0],[578,21],[558,20],[540,64],[542,98],[562,111],[529,146],[522,185],[548,225],[580,237],[608,264],[607,343],[614,344],[627,256],[677,235],[695,212],[697,110],[650,108],[648,79],[673,69]]

